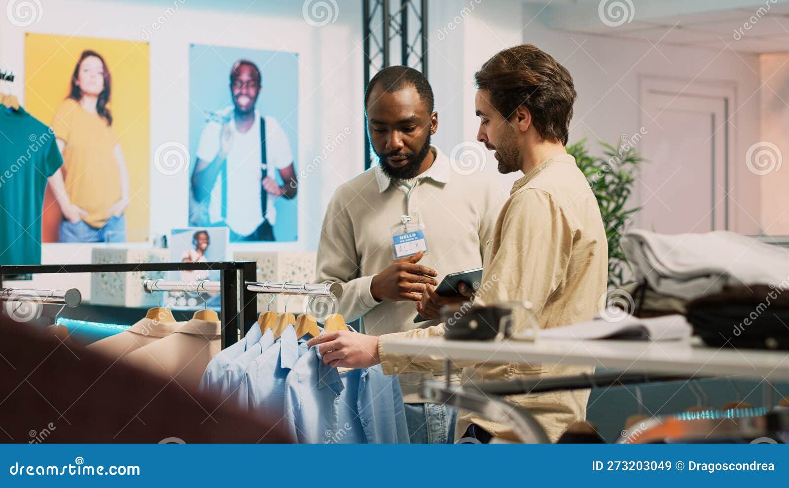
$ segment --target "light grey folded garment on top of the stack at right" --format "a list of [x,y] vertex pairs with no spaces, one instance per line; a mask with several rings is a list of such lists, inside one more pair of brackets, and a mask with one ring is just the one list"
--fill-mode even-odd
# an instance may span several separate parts
[[728,231],[659,234],[637,229],[622,238],[635,278],[656,292],[686,300],[727,285],[783,283],[789,252]]

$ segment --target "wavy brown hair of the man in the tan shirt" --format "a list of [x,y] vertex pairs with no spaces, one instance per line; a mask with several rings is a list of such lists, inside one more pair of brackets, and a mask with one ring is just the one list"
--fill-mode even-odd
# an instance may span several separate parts
[[510,47],[485,61],[474,81],[502,117],[525,106],[540,137],[567,145],[577,94],[570,72],[550,54],[531,44]]

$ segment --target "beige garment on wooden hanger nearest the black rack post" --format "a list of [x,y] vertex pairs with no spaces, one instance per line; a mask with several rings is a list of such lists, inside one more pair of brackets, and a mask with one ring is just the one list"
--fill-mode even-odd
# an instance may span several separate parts
[[152,374],[174,378],[188,391],[197,391],[205,367],[222,348],[221,322],[192,319],[169,336],[123,358]]

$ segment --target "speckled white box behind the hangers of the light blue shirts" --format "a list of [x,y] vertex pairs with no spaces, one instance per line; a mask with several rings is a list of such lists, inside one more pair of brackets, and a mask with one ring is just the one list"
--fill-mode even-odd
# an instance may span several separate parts
[[[233,253],[234,261],[254,261],[257,263],[257,281],[277,281],[284,283],[312,283],[315,281],[315,266],[317,252],[315,251],[281,251],[281,252],[247,252]],[[260,293],[257,296],[257,310],[268,310],[271,295]],[[271,302],[271,310],[285,311],[288,295],[275,296]],[[307,307],[308,296],[290,295],[287,302],[287,311],[300,314]],[[319,300],[319,299],[316,299]]]

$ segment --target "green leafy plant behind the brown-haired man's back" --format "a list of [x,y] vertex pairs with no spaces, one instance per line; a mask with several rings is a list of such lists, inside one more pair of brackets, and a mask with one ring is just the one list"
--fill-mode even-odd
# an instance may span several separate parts
[[638,155],[632,143],[623,142],[616,147],[600,142],[603,148],[600,157],[589,155],[585,139],[567,146],[567,152],[574,156],[600,206],[608,238],[609,289],[620,289],[628,282],[626,272],[630,272],[630,263],[625,259],[619,240],[630,218],[641,210],[641,207],[627,207],[627,200],[633,193],[634,173],[645,159]]

